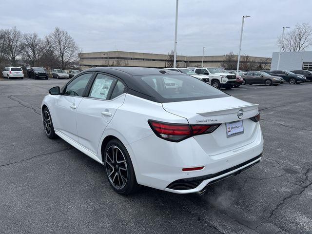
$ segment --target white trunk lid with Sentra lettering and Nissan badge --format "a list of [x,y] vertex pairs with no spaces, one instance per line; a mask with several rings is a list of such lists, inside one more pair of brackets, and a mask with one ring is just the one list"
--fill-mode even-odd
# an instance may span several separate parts
[[[190,124],[221,124],[213,133],[194,136],[209,156],[241,148],[254,142],[256,138],[258,125],[249,118],[257,115],[258,104],[226,97],[169,102],[162,105],[167,112],[185,117]],[[244,133],[227,137],[226,123],[240,120]]]

